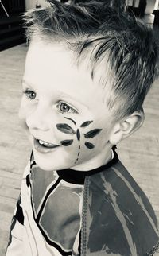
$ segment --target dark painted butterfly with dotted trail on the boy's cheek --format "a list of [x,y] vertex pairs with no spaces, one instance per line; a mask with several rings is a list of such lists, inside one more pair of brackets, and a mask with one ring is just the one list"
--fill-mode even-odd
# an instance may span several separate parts
[[[76,126],[76,121],[75,120],[73,120],[72,118],[67,118],[67,117],[64,117],[64,118],[72,121],[73,125]],[[57,130],[60,130],[60,132],[62,132],[64,134],[69,134],[69,135],[72,135],[72,136],[76,134],[76,138],[74,138],[74,139],[72,139],[72,138],[71,139],[65,139],[65,140],[60,142],[60,144],[64,145],[64,146],[72,145],[74,140],[79,142],[78,153],[77,153],[76,161],[74,162],[75,165],[77,164],[77,161],[79,161],[79,158],[80,158],[80,150],[81,150],[80,138],[81,138],[81,135],[84,138],[90,139],[90,138],[94,138],[95,136],[97,136],[102,131],[102,129],[95,128],[93,130],[89,130],[87,133],[84,133],[84,128],[89,126],[92,122],[93,121],[83,122],[80,125],[79,128],[75,127],[74,129],[71,126],[69,126],[67,123],[59,123],[59,124],[56,125]],[[94,149],[95,148],[95,145],[91,142],[86,141],[86,142],[84,142],[84,145],[86,146],[87,149]]]

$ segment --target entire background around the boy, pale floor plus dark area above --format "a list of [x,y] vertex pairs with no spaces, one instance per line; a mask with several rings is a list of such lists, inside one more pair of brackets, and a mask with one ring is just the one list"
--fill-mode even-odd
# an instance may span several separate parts
[[[90,0],[91,1],[91,0]],[[151,26],[158,37],[159,0],[102,0],[133,12]],[[74,2],[78,0],[61,0]],[[83,2],[87,2],[83,0]],[[0,256],[5,255],[10,221],[21,187],[31,147],[17,116],[21,101],[21,78],[25,69],[25,31],[21,14],[46,6],[44,0],[0,1]],[[145,99],[145,123],[138,132],[118,145],[119,157],[142,187],[159,220],[159,87],[155,81]],[[159,254],[155,254],[159,255]]]

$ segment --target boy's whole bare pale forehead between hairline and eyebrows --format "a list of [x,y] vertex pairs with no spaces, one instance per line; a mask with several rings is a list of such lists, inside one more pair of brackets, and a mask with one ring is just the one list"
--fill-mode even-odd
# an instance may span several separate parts
[[76,55],[67,45],[33,41],[26,56],[24,79],[41,94],[48,91],[48,97],[60,91],[89,107],[98,103],[106,109],[109,82],[106,90],[98,79],[92,80],[89,57],[77,64]]

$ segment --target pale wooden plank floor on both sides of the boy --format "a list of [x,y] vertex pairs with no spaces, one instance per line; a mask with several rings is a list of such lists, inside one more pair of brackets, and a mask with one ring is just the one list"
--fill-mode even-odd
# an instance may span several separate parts
[[[0,256],[4,256],[10,220],[19,195],[30,145],[19,126],[21,77],[25,45],[0,52]],[[159,86],[154,83],[145,100],[141,130],[118,145],[120,159],[143,188],[159,219]],[[157,254],[159,255],[159,254]]]

